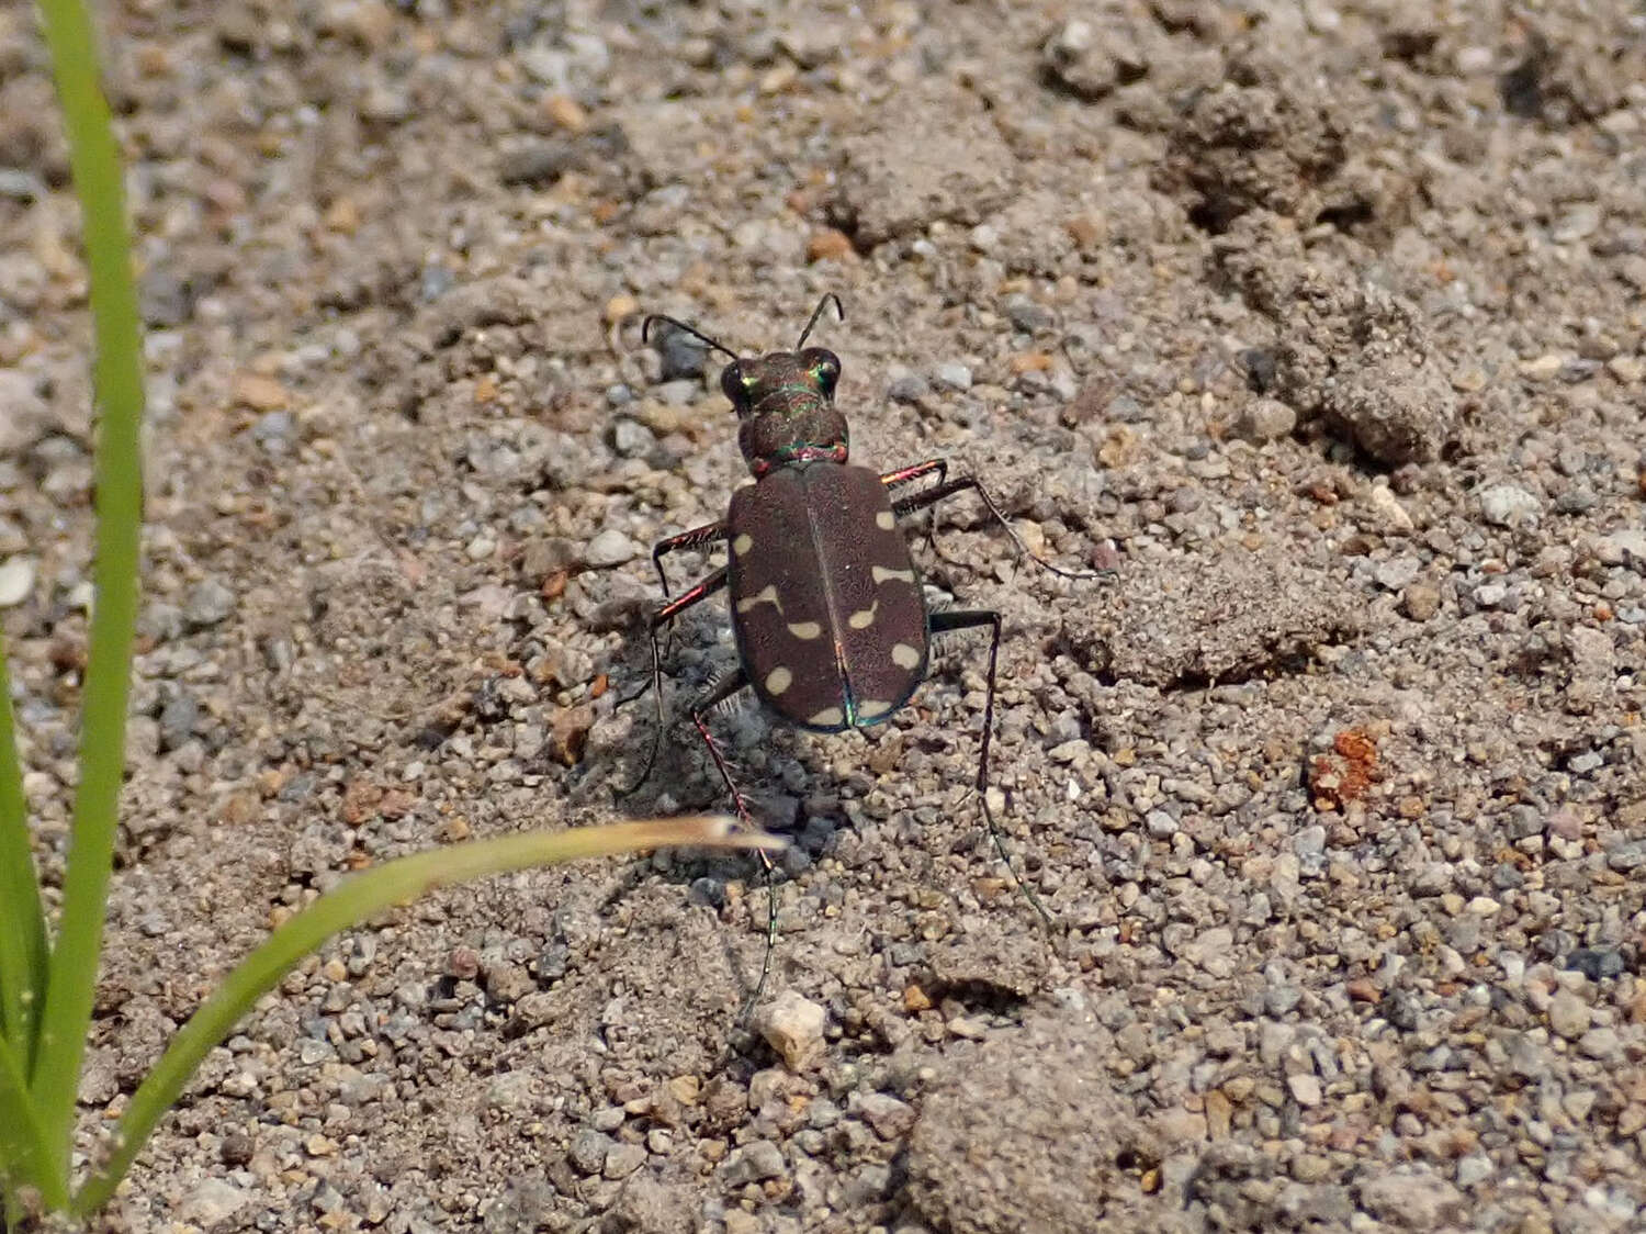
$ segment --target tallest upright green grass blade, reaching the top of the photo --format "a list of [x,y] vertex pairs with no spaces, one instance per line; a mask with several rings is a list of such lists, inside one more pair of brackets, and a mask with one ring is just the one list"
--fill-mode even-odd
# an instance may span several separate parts
[[40,0],[40,10],[81,199],[97,353],[92,389],[99,407],[94,463],[97,547],[79,786],[63,880],[63,919],[48,965],[40,1046],[30,1071],[35,1109],[54,1152],[66,1163],[102,949],[104,898],[125,763],[125,707],[143,519],[138,456],[143,361],[120,152],[99,82],[91,15],[82,0]]

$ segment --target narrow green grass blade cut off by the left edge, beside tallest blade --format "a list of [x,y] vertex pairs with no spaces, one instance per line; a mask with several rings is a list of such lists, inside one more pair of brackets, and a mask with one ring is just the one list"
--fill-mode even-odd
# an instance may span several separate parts
[[28,848],[28,802],[16,756],[12,677],[0,639],[0,1041],[21,1059],[35,1053],[35,1017],[46,993],[46,918]]

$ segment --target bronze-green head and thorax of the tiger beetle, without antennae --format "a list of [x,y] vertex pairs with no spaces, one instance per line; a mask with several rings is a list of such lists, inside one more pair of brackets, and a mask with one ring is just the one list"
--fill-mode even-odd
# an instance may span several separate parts
[[737,418],[737,445],[756,478],[772,468],[826,458],[844,463],[846,417],[835,410],[839,358],[823,348],[732,361],[721,390]]

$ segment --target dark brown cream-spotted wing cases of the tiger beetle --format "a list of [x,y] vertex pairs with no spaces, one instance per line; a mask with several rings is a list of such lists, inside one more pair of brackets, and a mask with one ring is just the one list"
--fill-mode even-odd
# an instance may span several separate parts
[[815,732],[902,707],[927,667],[920,578],[869,468],[783,466],[732,493],[731,611],[760,702]]

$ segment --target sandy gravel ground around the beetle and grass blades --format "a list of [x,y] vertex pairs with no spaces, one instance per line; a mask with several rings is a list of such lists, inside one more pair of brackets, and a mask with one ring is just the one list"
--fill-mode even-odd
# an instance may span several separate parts
[[[1646,16],[1539,5],[104,5],[150,325],[87,1147],[344,872],[647,788],[647,545],[718,364],[846,321],[854,458],[1006,616],[864,736],[716,720],[779,881],[589,863],[339,939],[110,1229],[1643,1229]],[[56,868],[84,657],[76,214],[0,12],[0,600]],[[711,559],[683,555],[675,580]],[[681,623],[668,697],[734,662]]]

